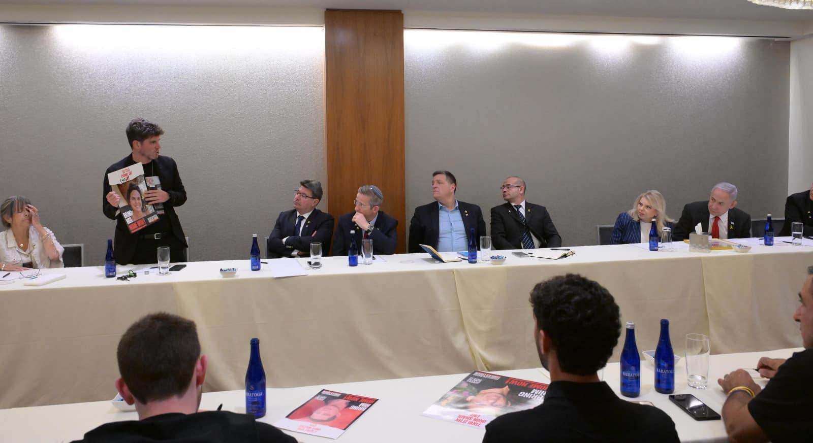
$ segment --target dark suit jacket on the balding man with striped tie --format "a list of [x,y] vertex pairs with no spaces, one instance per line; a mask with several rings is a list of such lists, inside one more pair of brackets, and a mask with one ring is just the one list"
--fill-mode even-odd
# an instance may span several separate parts
[[[531,234],[539,239],[539,247],[560,247],[562,237],[545,206],[525,202],[525,224]],[[491,209],[491,245],[494,249],[522,249],[525,224],[511,203],[506,202]]]

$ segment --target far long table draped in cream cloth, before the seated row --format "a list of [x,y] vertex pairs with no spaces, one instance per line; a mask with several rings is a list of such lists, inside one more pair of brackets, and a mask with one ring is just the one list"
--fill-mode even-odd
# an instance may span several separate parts
[[[307,259],[264,260],[251,272],[248,260],[202,261],[127,282],[105,278],[102,266],[45,269],[67,277],[0,285],[0,408],[112,398],[121,334],[157,311],[197,322],[209,355],[207,391],[241,389],[253,337],[274,388],[533,368],[528,294],[563,273],[610,290],[622,324],[636,322],[641,351],[654,349],[661,318],[671,321],[677,354],[689,332],[707,333],[712,354],[801,346],[792,315],[813,243],[747,242],[754,243],[747,253],[700,254],[683,243],[659,252],[572,247],[576,254],[560,260],[502,252],[505,265],[399,254],[354,268],[328,257],[318,270],[307,269]],[[292,260],[306,275],[272,276]],[[220,275],[231,267],[237,276]]]

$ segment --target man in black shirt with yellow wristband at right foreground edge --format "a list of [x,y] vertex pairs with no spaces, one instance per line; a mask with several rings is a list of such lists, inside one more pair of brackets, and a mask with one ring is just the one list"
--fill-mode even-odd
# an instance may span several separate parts
[[807,268],[793,320],[799,324],[805,349],[787,360],[759,359],[757,370],[770,379],[765,389],[744,369],[717,381],[728,394],[722,414],[729,441],[813,440],[813,266]]

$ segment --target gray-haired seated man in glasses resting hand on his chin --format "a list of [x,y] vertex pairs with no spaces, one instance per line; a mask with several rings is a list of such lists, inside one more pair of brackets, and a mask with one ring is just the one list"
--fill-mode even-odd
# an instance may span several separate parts
[[361,241],[372,239],[373,254],[394,254],[398,246],[398,220],[381,211],[384,193],[376,185],[359,187],[354,213],[339,217],[339,227],[333,240],[333,255],[346,256],[350,248],[350,230],[355,231],[356,246],[361,252]]

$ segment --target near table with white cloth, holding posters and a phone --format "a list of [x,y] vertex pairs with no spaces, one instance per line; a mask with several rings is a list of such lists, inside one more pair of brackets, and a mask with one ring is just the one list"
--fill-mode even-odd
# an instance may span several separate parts
[[[801,349],[711,355],[707,389],[693,389],[686,386],[685,363],[681,359],[675,367],[675,394],[693,394],[711,409],[721,413],[725,394],[717,385],[718,378],[737,368],[754,368],[761,356],[789,358],[793,351],[801,351]],[[619,363],[610,363],[603,371],[603,379],[620,397],[619,372]],[[541,368],[499,371],[498,373],[524,380],[550,383],[547,372]],[[347,431],[339,437],[339,441],[353,443],[482,441],[485,433],[483,428],[470,428],[421,415],[421,412],[437,401],[442,394],[463,380],[465,375],[424,376],[267,389],[267,413],[259,420],[267,424],[274,424],[324,388],[379,399],[369,411],[347,428]],[[651,402],[655,407],[666,412],[675,422],[680,441],[687,443],[724,443],[728,441],[722,420],[695,421],[672,404],[667,395],[655,392],[653,381],[652,364],[641,359],[641,396],[632,400]],[[767,384],[766,379],[759,379],[756,382],[763,387]],[[245,413],[245,391],[233,390],[203,394],[202,409],[213,411],[220,405],[223,406],[224,411]],[[101,424],[134,419],[138,419],[136,412],[118,411],[110,401],[0,410],[0,423],[5,424],[2,439],[16,443],[72,441],[81,438],[85,432]],[[42,424],[47,424],[47,426]],[[285,432],[303,443],[327,441],[324,437]]]

